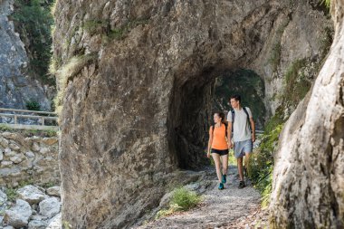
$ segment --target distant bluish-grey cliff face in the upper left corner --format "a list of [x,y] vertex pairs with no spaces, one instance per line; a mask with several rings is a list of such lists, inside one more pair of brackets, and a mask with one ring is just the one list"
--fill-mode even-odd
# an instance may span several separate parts
[[13,10],[13,1],[0,1],[0,107],[26,109],[28,101],[35,101],[42,110],[50,110],[53,90],[27,71],[24,43],[8,19]]

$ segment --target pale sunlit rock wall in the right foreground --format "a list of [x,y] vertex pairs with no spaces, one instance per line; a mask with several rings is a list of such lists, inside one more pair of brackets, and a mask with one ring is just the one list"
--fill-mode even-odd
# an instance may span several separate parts
[[344,1],[331,1],[335,36],[308,97],[282,130],[273,171],[272,228],[344,227]]

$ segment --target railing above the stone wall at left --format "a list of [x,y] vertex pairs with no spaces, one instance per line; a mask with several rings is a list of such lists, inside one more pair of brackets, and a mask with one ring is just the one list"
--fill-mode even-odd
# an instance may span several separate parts
[[[1,119],[0,124],[1,126],[12,129],[58,129],[58,118],[54,112],[0,108],[0,118],[9,118],[10,122],[4,122]],[[24,122],[25,119],[33,119],[35,122],[33,124],[27,124]],[[46,120],[51,121],[47,123]]]

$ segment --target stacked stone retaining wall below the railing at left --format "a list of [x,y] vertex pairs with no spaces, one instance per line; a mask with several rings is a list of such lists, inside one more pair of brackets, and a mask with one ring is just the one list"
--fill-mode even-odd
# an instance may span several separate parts
[[0,133],[0,184],[60,184],[57,137]]

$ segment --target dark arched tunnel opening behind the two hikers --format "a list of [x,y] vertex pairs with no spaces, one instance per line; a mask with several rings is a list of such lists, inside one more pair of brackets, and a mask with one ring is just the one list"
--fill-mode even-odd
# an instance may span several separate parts
[[199,170],[209,165],[205,150],[213,113],[223,111],[226,115],[232,110],[229,98],[233,94],[242,96],[242,105],[253,112],[256,129],[263,129],[264,83],[256,72],[207,69],[186,81],[175,81],[167,129],[169,151],[177,157],[179,168]]

